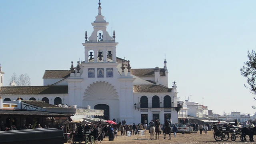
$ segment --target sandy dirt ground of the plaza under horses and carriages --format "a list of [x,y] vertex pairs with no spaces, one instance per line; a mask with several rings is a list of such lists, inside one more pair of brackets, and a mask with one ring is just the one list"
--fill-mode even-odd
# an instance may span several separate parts
[[[126,139],[126,140],[125,140]],[[255,140],[255,137],[254,137]],[[256,141],[256,140],[255,140]],[[89,142],[90,143],[90,142]],[[99,142],[100,143],[100,142]],[[208,132],[208,134],[177,134],[176,138],[174,135],[171,134],[171,140],[169,140],[169,135],[166,135],[166,139],[164,140],[164,135],[160,134],[159,139],[150,140],[150,134],[148,130],[146,131],[146,138],[145,136],[134,136],[131,137],[124,137],[121,136],[120,132],[117,134],[117,138],[114,141],[109,141],[105,138],[102,142],[103,144],[242,144],[242,143],[256,143],[256,142],[242,142],[240,138],[237,138],[236,141],[232,142],[230,138],[227,141],[220,141],[216,142],[213,137],[213,132]],[[84,144],[84,142],[82,142]]]

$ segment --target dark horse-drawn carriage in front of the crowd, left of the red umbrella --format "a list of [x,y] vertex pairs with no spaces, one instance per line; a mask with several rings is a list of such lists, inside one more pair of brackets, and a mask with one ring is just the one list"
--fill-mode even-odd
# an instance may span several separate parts
[[88,132],[83,133],[82,135],[78,134],[78,133],[73,134],[73,138],[72,138],[73,144],[76,144],[76,142],[81,144],[82,141],[84,141],[86,144],[88,144],[89,142],[91,144],[93,144],[94,143],[94,136],[93,136],[92,132],[88,131]]

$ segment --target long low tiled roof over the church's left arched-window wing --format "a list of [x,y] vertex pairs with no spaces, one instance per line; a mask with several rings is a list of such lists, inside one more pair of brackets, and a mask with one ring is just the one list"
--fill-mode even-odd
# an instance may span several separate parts
[[68,94],[68,86],[2,86],[0,95]]

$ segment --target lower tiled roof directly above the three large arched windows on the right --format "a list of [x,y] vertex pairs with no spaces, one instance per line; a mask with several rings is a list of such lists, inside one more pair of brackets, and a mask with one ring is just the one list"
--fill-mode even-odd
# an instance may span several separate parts
[[172,88],[167,88],[162,85],[156,84],[142,84],[142,85],[134,85],[133,92],[134,93],[150,93],[150,92],[171,92]]

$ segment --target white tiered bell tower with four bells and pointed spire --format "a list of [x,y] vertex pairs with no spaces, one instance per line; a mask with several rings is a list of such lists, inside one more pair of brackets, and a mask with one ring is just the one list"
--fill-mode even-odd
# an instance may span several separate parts
[[101,3],[98,6],[98,16],[92,22],[93,32],[87,37],[85,32],[84,46],[85,60],[84,63],[116,63],[116,46],[115,31],[113,37],[108,34],[108,22],[101,15]]

